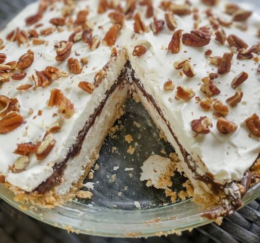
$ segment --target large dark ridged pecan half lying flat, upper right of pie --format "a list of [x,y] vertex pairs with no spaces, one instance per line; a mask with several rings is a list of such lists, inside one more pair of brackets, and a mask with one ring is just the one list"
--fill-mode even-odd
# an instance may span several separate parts
[[182,43],[187,46],[206,46],[209,44],[210,39],[210,34],[201,30],[193,30],[190,33],[185,33],[182,35]]

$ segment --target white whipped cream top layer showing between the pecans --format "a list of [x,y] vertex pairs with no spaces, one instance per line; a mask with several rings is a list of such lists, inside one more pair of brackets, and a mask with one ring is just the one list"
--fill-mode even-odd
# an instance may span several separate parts
[[[154,16],[158,19],[164,20],[165,12],[159,8],[160,0],[153,1]],[[183,4],[184,1],[175,1],[176,4]],[[208,25],[205,11],[208,6],[201,4],[199,0],[190,1],[192,7],[199,10],[200,26]],[[229,21],[231,17],[224,14],[225,1],[220,1],[216,7],[212,7],[212,12],[215,16]],[[153,95],[158,105],[163,110],[169,123],[173,127],[180,144],[197,162],[200,171],[203,174],[210,172],[213,175],[215,182],[221,184],[231,180],[240,180],[244,172],[252,165],[260,151],[259,139],[251,136],[248,137],[249,130],[244,124],[244,120],[253,113],[259,114],[259,95],[260,95],[260,75],[256,73],[258,66],[253,60],[237,60],[236,55],[233,57],[231,71],[224,75],[220,75],[214,80],[221,93],[216,96],[219,100],[225,103],[226,98],[232,96],[235,92],[231,88],[232,79],[241,71],[248,73],[248,80],[246,80],[239,89],[243,91],[242,102],[235,107],[229,107],[229,114],[226,116],[228,120],[233,121],[238,129],[230,134],[220,134],[216,129],[217,118],[212,114],[212,111],[204,111],[195,98],[189,101],[176,100],[174,98],[176,88],[173,91],[164,91],[163,84],[171,79],[175,83],[175,87],[183,85],[192,88],[196,96],[203,98],[205,95],[200,91],[200,83],[203,77],[208,76],[210,72],[217,72],[217,67],[209,63],[209,59],[204,56],[206,49],[212,50],[212,56],[222,56],[224,52],[229,52],[227,45],[218,44],[213,36],[207,46],[196,48],[182,45],[178,54],[172,54],[165,49],[168,46],[173,32],[170,31],[166,24],[163,30],[157,35],[152,31],[144,34],[134,33],[134,20],[129,19],[120,30],[116,45],[119,49],[126,51],[120,52],[117,60],[108,70],[108,75],[103,80],[102,84],[94,90],[93,94],[88,94],[78,87],[80,81],[88,81],[94,83],[94,76],[96,72],[101,70],[108,62],[111,55],[109,47],[102,45],[102,39],[106,32],[112,26],[112,22],[108,17],[110,12],[108,10],[104,14],[97,14],[99,1],[79,0],[76,2],[75,11],[72,19],[75,20],[77,13],[83,9],[89,9],[88,21],[93,23],[93,34],[98,35],[101,44],[96,50],[89,50],[87,44],[83,41],[74,43],[70,57],[82,58],[88,57],[89,64],[84,66],[83,72],[77,75],[71,74],[67,60],[57,62],[56,49],[54,45],[56,41],[68,40],[73,30],[69,30],[66,26],[64,31],[54,31],[49,36],[40,36],[40,38],[47,41],[46,45],[24,44],[20,47],[17,42],[7,42],[6,36],[15,27],[20,27],[25,31],[29,31],[32,27],[25,24],[25,18],[28,13],[34,14],[38,4],[32,4],[22,11],[8,26],[0,33],[0,37],[4,40],[5,48],[1,50],[2,53],[7,54],[6,63],[9,61],[18,60],[20,56],[25,54],[28,49],[35,53],[35,60],[32,66],[25,71],[27,77],[21,81],[11,79],[10,82],[3,83],[0,88],[0,94],[7,95],[10,98],[16,97],[20,104],[20,114],[24,116],[26,124],[23,124],[14,132],[0,135],[0,153],[2,158],[0,161],[0,173],[6,176],[6,180],[15,186],[21,187],[23,190],[32,191],[39,184],[45,181],[52,172],[52,167],[55,163],[63,161],[69,151],[69,148],[75,142],[78,132],[82,129],[86,119],[93,113],[95,107],[104,98],[105,91],[112,85],[113,80],[120,73],[126,58],[131,61],[132,67],[135,69],[138,78],[143,83],[148,93]],[[126,6],[126,1],[120,1],[123,8]],[[45,29],[53,26],[50,24],[52,18],[61,17],[62,2],[56,2],[50,6],[44,13],[43,19],[39,23],[43,26],[37,30]],[[137,5],[145,24],[148,26],[153,19],[145,18],[146,7]],[[174,15],[177,22],[177,29],[183,30],[184,33],[189,33],[193,30],[193,17],[191,15],[178,16]],[[241,37],[248,46],[252,46],[260,41],[256,36],[257,29],[260,27],[260,16],[256,13],[246,21],[248,29],[241,31],[236,28],[237,23],[233,23],[230,28],[225,28],[226,34],[235,34]],[[132,55],[135,45],[147,44],[149,48],[147,52],[141,57]],[[179,75],[179,70],[173,68],[173,62],[183,58],[191,58],[190,62],[196,72],[193,78],[187,78],[185,75]],[[67,71],[69,77],[62,77],[51,83],[46,88],[38,87],[36,90],[32,88],[27,91],[18,91],[16,88],[21,84],[31,83],[28,77],[31,76],[35,70],[43,70],[47,66],[55,66],[63,71]],[[51,90],[59,88],[64,95],[74,104],[75,114],[66,119],[58,113],[58,108],[47,107],[47,102],[50,97]],[[33,114],[30,114],[30,108],[33,109]],[[38,110],[42,110],[42,115],[37,115]],[[57,116],[53,116],[57,113]],[[212,119],[213,128],[207,135],[194,136],[190,127],[190,122],[200,116],[208,116]],[[35,117],[36,116],[36,117]],[[51,153],[42,161],[38,161],[34,156],[30,156],[30,163],[26,171],[21,173],[13,173],[10,171],[14,161],[19,157],[13,152],[17,148],[18,143],[42,141],[46,131],[49,127],[60,121],[62,124],[61,132],[53,134],[56,140],[55,147]],[[170,136],[170,135],[168,135]],[[6,142],[8,141],[8,143]],[[30,183],[28,183],[30,181]]]

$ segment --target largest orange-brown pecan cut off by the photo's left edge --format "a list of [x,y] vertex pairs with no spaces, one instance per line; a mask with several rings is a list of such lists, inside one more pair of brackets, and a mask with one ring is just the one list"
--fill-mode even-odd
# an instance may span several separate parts
[[24,123],[24,118],[16,111],[9,112],[0,119],[0,134],[13,132]]

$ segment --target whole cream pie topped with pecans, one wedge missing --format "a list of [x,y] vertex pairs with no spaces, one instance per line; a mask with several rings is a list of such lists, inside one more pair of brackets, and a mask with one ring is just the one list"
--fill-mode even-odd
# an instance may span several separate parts
[[0,34],[0,181],[18,200],[74,196],[134,90],[195,201],[241,205],[260,163],[259,15],[225,1],[38,5]]

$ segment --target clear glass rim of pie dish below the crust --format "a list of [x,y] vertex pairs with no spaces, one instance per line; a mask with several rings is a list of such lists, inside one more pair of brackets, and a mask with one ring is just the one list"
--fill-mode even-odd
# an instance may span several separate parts
[[[259,196],[260,183],[257,183],[243,196],[243,206]],[[34,207],[30,207],[31,204],[25,205],[14,201],[14,194],[3,185],[0,185],[0,197],[13,207],[42,222],[76,233],[105,237],[165,235],[213,221],[201,216],[212,208],[201,209],[191,199],[152,209],[122,210],[72,201],[53,209],[35,210]]]

